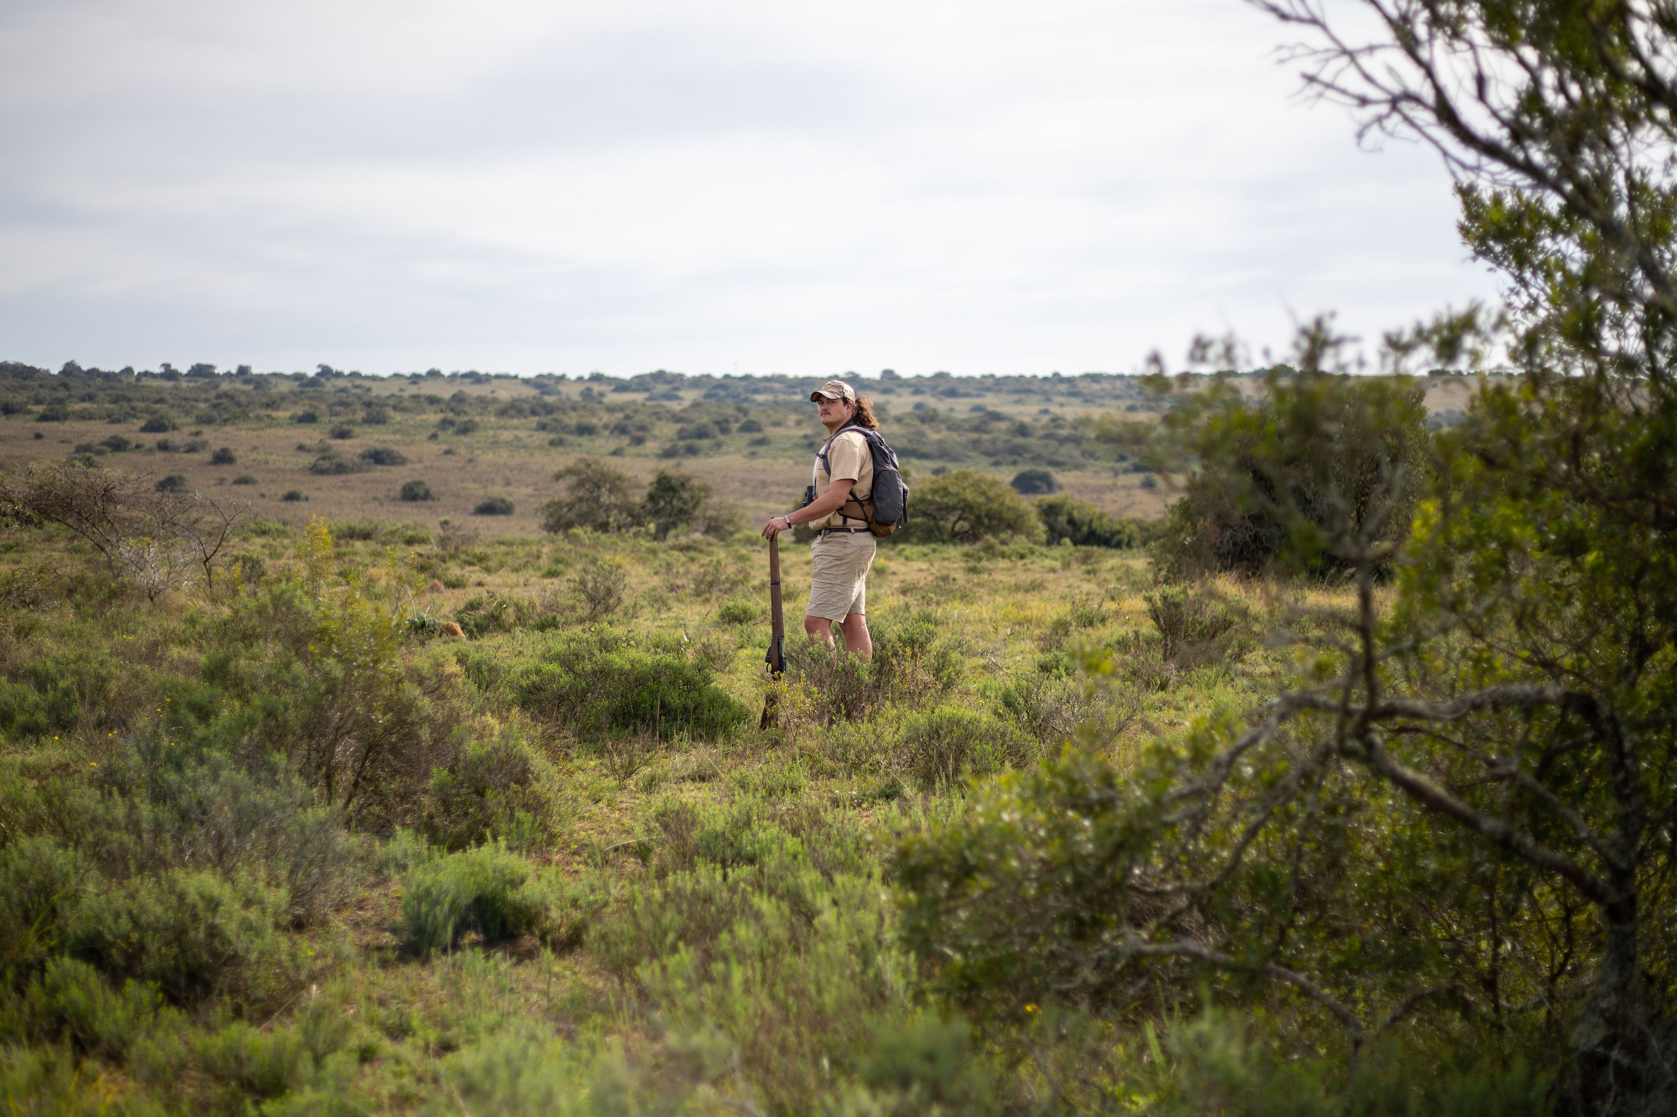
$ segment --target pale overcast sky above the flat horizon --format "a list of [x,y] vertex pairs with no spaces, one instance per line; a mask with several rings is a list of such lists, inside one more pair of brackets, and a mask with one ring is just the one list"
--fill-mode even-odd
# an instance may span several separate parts
[[1238,0],[5,0],[0,359],[1135,371],[1494,294]]

